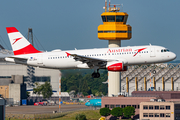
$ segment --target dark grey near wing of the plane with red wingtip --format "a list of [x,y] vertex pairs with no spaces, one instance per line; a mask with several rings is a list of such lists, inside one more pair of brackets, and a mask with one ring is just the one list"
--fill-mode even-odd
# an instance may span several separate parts
[[82,55],[78,55],[78,54],[70,54],[70,53],[67,53],[67,52],[66,52],[66,54],[67,54],[67,56],[73,56],[76,61],[81,61],[82,63],[87,63],[87,65],[90,68],[95,67],[95,66],[103,68],[107,64],[106,59],[86,57],[86,56],[82,56]]

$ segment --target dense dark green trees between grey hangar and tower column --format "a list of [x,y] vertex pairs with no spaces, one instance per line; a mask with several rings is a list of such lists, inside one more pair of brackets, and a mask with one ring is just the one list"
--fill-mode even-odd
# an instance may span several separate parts
[[100,78],[92,78],[92,70],[62,70],[62,91],[70,92],[75,90],[75,94],[82,92],[84,95],[97,95],[102,96],[107,95],[108,85],[102,82],[107,81],[107,71],[101,70]]

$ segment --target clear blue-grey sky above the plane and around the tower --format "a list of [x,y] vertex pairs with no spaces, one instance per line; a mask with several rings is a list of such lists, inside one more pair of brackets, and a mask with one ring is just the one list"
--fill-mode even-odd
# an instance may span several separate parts
[[[129,14],[132,38],[121,45],[159,45],[180,60],[180,0],[111,0]],[[97,38],[104,0],[3,0],[0,4],[0,44],[11,50],[6,27],[25,37],[33,29],[38,50],[72,50],[108,47]],[[43,47],[41,47],[41,45]]]

